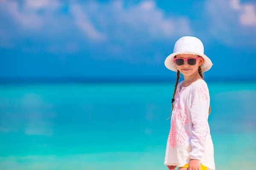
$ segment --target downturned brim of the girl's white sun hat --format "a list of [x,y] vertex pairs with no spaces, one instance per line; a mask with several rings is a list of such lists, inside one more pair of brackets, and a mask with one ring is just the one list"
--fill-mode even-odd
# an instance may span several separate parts
[[166,68],[172,71],[177,71],[177,65],[174,62],[174,57],[178,54],[193,54],[193,55],[199,55],[204,58],[204,63],[201,65],[201,70],[202,72],[208,71],[212,67],[212,61],[205,55],[205,54],[200,54],[200,53],[195,53],[195,52],[177,52],[177,53],[172,53],[168,57],[166,57],[164,65]]

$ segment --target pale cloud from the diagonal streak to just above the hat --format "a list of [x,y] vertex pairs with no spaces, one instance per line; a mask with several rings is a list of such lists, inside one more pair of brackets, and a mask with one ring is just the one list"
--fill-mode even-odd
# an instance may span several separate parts
[[104,4],[90,1],[86,4],[73,4],[71,13],[76,25],[88,37],[96,40],[108,37],[110,40],[125,41],[132,36],[159,40],[191,33],[186,17],[168,17],[163,10],[157,8],[154,1],[127,6],[121,0]]

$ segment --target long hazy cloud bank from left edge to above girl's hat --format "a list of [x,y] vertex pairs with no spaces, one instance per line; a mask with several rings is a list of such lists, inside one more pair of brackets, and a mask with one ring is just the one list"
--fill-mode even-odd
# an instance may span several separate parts
[[[1,47],[25,49],[23,41],[31,40],[35,42],[31,48],[75,52],[86,48],[85,44],[95,47],[95,43],[103,43],[108,50],[120,53],[122,48],[141,42],[192,32],[186,17],[167,16],[154,1],[128,5],[122,0],[81,2],[1,1],[0,22],[6,23],[0,25]],[[67,48],[69,44],[72,48]]]

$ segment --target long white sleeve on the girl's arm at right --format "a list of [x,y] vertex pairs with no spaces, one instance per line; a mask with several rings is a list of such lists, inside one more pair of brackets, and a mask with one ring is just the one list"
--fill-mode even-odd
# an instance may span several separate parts
[[204,150],[208,129],[209,113],[209,90],[204,82],[192,91],[192,105],[190,108],[192,120],[192,151],[189,153],[190,159],[201,160]]

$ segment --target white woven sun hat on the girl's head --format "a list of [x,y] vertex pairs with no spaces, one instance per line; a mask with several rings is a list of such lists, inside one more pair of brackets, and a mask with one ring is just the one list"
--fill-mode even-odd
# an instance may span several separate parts
[[204,58],[204,63],[201,65],[202,72],[208,71],[212,67],[212,61],[204,54],[204,45],[196,37],[185,36],[181,37],[174,45],[173,53],[166,57],[164,62],[166,68],[177,71],[174,57],[177,54],[194,54]]

